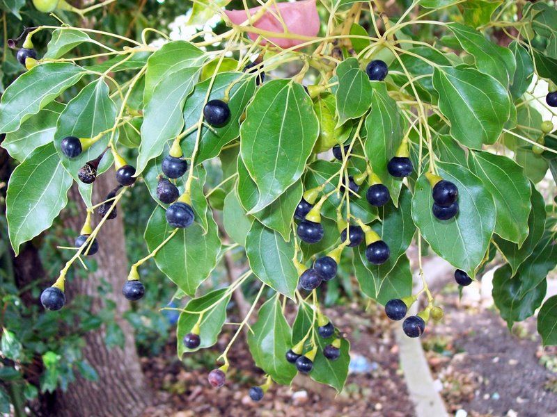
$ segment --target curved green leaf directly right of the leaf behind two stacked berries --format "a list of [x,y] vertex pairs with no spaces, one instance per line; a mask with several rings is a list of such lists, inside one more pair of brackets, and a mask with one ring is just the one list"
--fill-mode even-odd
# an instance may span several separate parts
[[522,167],[506,156],[489,152],[469,152],[468,165],[492,193],[497,208],[495,233],[522,245],[528,236],[532,208],[530,181]]

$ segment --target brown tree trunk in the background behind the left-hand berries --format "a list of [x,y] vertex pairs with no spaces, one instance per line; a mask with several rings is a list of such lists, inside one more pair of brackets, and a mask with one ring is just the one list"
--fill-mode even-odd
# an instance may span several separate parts
[[[116,186],[113,171],[97,178],[93,187],[93,202],[102,202],[107,193]],[[65,225],[76,234],[85,220],[85,207],[77,187],[70,190],[70,199],[79,202],[80,215],[68,218]],[[130,308],[121,288],[127,277],[127,256],[124,245],[123,212],[118,207],[118,217],[104,222],[97,238],[99,252],[95,254],[97,271],[86,279],[73,279],[68,282],[65,293],[68,302],[74,295],[88,295],[93,300],[92,311],[95,313],[104,306],[104,298],[99,297],[97,288],[102,281],[112,286],[107,294],[116,303],[116,322],[125,335],[125,346],[107,348],[104,344],[105,332],[101,328],[85,336],[84,358],[95,368],[99,375],[97,382],[78,377],[65,393],[56,393],[54,414],[56,416],[138,416],[148,405],[152,404],[152,393],[148,388],[136,352],[134,334],[130,324],[123,318],[123,313]],[[95,223],[100,216],[95,213]],[[94,225],[93,225],[94,227]],[[75,264],[79,268],[79,263]]]

